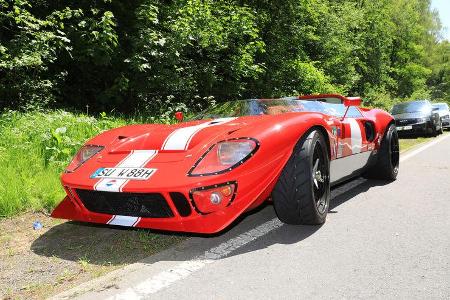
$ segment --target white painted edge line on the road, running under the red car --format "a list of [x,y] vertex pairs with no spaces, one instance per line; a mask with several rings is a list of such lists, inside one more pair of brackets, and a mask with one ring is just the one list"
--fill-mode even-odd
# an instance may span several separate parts
[[[419,154],[420,152],[426,150],[427,148],[436,145],[437,143],[443,141],[450,135],[443,136],[439,139],[436,139],[433,142],[427,143],[424,146],[412,151],[411,153],[408,153],[404,157],[401,158],[401,161],[406,161],[410,159],[411,157]],[[366,180],[360,180],[359,183],[356,181],[357,184],[352,186],[355,187],[357,185],[360,185]],[[338,188],[334,190],[333,197],[337,197],[340,194],[344,193],[347,188]],[[206,251],[203,255],[200,255],[192,260],[185,261],[183,263],[178,264],[174,268],[171,268],[167,271],[160,272],[156,274],[153,277],[150,277],[139,284],[135,285],[134,287],[130,287],[126,289],[122,293],[118,293],[109,299],[119,300],[119,299],[143,299],[146,298],[146,296],[155,294],[159,292],[160,290],[174,284],[177,281],[180,281],[194,272],[204,268],[206,265],[213,263],[214,261],[224,258],[225,256],[229,255],[233,251],[236,251],[237,249],[247,245],[248,243],[268,234],[269,232],[280,228],[283,226],[283,223],[278,220],[278,218],[273,218],[270,221],[267,221],[261,225],[259,225],[256,228],[253,228],[247,232],[244,232],[237,237],[234,237],[226,242],[223,242],[219,246],[215,248],[211,248],[210,250]]]

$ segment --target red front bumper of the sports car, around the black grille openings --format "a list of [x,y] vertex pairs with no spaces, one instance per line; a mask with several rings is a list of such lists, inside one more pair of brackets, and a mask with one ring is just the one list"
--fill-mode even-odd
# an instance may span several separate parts
[[[128,190],[126,193],[121,193],[121,195],[128,195],[129,197],[132,197],[131,194],[160,195],[163,199],[162,201],[167,204],[167,207],[161,209],[163,213],[154,215],[153,217],[130,216],[129,212],[127,212],[128,215],[94,212],[92,211],[92,207],[90,209],[87,208],[87,205],[84,204],[86,202],[83,202],[85,199],[81,199],[80,194],[83,196],[83,194],[86,194],[83,191],[87,191],[88,194],[96,193],[97,191],[87,189],[85,186],[77,186],[72,183],[73,181],[65,182],[63,179],[62,181],[67,196],[53,211],[52,217],[168,231],[206,234],[220,232],[243,212],[259,206],[270,196],[278,174],[284,165],[284,161],[289,157],[288,155],[285,156],[286,154],[280,154],[270,162],[259,166],[258,169],[252,170],[252,172],[240,173],[237,172],[239,169],[237,168],[235,171],[226,173],[223,176],[207,176],[209,177],[208,179],[199,178],[196,183],[189,183],[185,186],[149,187],[145,191],[142,189],[136,191]],[[232,175],[232,179],[230,178],[231,174],[234,174]],[[212,213],[204,214],[198,211],[190,195],[190,191],[202,186],[210,186],[211,184],[221,184],[224,182],[235,182],[237,184],[237,190],[232,203]],[[115,192],[106,192],[107,195],[108,193],[112,193],[110,194],[111,198],[117,196]],[[175,199],[175,194],[178,194],[178,198],[181,200]],[[184,205],[185,209],[180,209],[180,204],[177,202],[182,203],[181,206]],[[157,210],[160,208],[157,208]],[[151,207],[149,209],[151,210]]]

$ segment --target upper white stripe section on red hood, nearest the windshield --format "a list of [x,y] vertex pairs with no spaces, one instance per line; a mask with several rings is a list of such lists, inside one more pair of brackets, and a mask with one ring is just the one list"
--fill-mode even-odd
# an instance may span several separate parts
[[221,118],[215,119],[210,122],[202,123],[195,126],[183,127],[173,131],[162,146],[163,150],[186,150],[189,147],[194,135],[206,127],[222,125],[226,122],[233,121],[236,118]]

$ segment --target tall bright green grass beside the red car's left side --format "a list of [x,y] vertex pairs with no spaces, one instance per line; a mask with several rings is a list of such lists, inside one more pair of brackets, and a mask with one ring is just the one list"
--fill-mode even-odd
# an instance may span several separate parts
[[0,115],[0,216],[50,210],[64,196],[59,176],[90,137],[125,125],[65,111]]

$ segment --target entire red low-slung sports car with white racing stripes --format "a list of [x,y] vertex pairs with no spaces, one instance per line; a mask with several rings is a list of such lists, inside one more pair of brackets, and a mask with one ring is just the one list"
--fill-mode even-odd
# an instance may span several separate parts
[[67,196],[52,216],[216,233],[271,200],[285,223],[321,224],[332,185],[398,173],[394,119],[360,104],[341,95],[232,101],[187,122],[106,131],[67,167]]

